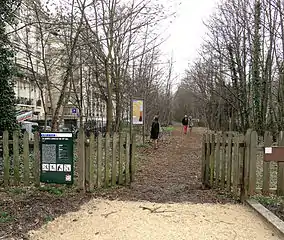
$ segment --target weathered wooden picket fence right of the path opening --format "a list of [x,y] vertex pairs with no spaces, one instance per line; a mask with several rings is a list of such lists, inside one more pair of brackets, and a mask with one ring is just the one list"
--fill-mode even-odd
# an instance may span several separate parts
[[[277,142],[273,142],[270,132],[266,132],[264,139],[260,140],[256,131],[251,129],[245,135],[233,132],[205,134],[202,144],[202,183],[227,190],[242,201],[256,193],[283,196],[284,162],[273,163],[263,159],[265,147],[284,146],[283,136],[280,132]],[[277,164],[276,189],[270,186],[272,164]],[[260,187],[257,187],[257,182],[260,182]]]

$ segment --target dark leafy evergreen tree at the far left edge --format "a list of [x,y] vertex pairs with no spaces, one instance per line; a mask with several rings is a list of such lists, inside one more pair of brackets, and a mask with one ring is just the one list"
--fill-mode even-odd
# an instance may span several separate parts
[[6,27],[13,22],[17,0],[2,0],[0,4],[0,131],[14,130],[17,126],[13,84],[13,51]]

